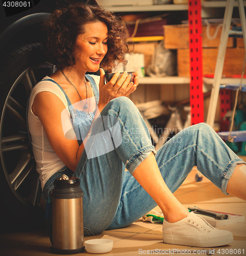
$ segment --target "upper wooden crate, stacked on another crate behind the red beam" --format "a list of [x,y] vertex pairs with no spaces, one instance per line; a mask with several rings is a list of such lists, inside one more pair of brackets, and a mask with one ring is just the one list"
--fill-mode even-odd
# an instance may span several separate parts
[[[217,25],[210,25],[209,34],[214,35]],[[164,46],[166,49],[189,48],[189,28],[188,25],[166,25],[164,27]],[[215,39],[210,40],[206,32],[207,25],[203,25],[203,47],[215,48],[219,46],[221,27]],[[234,47],[233,38],[228,38],[227,47]]]

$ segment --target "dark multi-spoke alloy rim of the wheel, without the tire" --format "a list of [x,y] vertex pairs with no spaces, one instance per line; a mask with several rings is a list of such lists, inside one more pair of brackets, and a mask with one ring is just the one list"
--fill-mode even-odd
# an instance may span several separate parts
[[0,157],[4,174],[14,196],[26,206],[35,205],[39,186],[29,146],[26,104],[35,84],[54,71],[55,66],[44,63],[21,73],[8,93],[1,117]]

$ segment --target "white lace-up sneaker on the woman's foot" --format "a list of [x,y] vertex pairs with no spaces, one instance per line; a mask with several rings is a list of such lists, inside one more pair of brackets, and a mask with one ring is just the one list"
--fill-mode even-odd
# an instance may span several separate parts
[[163,221],[163,242],[195,247],[215,247],[233,242],[232,233],[212,227],[202,217],[190,212],[174,223]]

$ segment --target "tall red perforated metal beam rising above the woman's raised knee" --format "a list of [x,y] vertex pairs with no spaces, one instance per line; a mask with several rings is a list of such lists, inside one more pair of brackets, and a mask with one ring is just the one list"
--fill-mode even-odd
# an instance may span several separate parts
[[189,0],[191,124],[204,122],[202,17],[200,0]]

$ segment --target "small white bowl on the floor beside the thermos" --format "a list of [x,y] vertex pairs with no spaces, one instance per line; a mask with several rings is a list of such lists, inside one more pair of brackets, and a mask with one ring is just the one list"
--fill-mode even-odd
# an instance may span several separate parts
[[106,253],[113,249],[113,240],[92,239],[84,242],[85,250],[89,253]]

